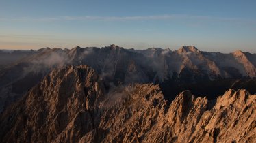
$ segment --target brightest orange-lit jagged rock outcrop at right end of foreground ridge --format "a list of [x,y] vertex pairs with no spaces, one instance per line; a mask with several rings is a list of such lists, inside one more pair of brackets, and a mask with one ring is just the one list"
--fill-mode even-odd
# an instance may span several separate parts
[[172,102],[168,114],[175,141],[253,142],[256,140],[255,101],[255,95],[245,90],[230,89],[216,103],[194,98],[185,91]]

